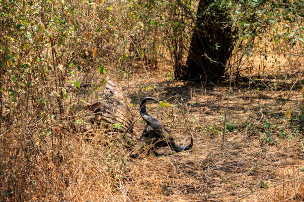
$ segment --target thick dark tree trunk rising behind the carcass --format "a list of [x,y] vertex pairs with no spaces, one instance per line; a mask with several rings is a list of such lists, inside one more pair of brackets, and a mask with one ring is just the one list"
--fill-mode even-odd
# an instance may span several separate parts
[[[200,0],[194,32],[182,79],[218,83],[224,78],[233,41],[224,10],[213,0]],[[211,8],[212,7],[212,8]]]

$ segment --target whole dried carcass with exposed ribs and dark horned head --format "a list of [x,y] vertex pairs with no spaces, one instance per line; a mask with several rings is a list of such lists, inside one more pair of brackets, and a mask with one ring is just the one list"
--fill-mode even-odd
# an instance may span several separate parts
[[[85,86],[88,85],[81,85]],[[100,101],[90,104],[86,109],[94,114],[91,118],[91,123],[106,122],[110,130],[108,132],[129,133],[131,136],[135,134],[133,131],[134,113],[131,109],[131,104],[126,95],[117,87],[117,85],[108,80],[105,85],[104,92],[99,98]],[[146,102],[148,100],[156,101],[153,98],[144,98],[140,104],[140,114],[147,122],[147,127],[144,129],[142,136],[135,144],[134,150],[131,152],[131,157],[137,157],[140,153],[148,152],[160,155],[156,152],[158,148],[168,146],[174,152],[182,152],[190,150],[193,146],[193,139],[188,146],[180,146],[174,142],[170,132],[166,130],[160,121],[147,113]],[[112,127],[113,125],[119,127]],[[147,146],[148,149],[145,147]]]

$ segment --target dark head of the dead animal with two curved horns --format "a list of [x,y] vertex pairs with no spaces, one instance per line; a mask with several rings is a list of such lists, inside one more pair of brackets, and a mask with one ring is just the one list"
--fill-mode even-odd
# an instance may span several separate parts
[[158,121],[156,118],[153,118],[147,113],[146,102],[148,100],[156,101],[154,98],[147,97],[144,98],[144,100],[141,102],[140,114],[142,118],[147,122],[147,127],[145,128],[136,146],[136,149],[139,149],[140,151],[135,151],[130,156],[135,158],[139,155],[139,153],[144,152],[145,145],[149,146],[149,152],[153,152],[156,156],[161,155],[156,152],[157,149],[167,146],[170,147],[170,149],[174,152],[190,150],[193,147],[192,137],[191,142],[188,146],[180,146],[175,144],[173,137],[170,136],[170,131],[165,129],[160,121]]

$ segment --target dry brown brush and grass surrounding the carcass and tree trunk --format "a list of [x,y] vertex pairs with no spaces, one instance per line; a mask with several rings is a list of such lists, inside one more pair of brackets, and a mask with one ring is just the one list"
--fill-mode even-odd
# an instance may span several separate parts
[[[0,1],[0,202],[304,201],[303,21],[264,24],[247,52],[236,37],[227,77],[207,85],[172,76],[191,41],[184,8],[198,2],[134,2]],[[110,79],[131,101],[134,136],[102,117],[87,131]],[[129,158],[148,96],[178,144],[193,137],[190,151]]]

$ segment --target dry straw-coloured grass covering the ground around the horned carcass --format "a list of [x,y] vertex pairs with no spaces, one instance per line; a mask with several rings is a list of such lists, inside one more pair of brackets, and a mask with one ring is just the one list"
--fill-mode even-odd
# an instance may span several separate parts
[[[192,151],[130,159],[122,137],[101,130],[87,142],[85,134],[65,127],[37,134],[24,130],[28,126],[22,121],[9,131],[2,125],[0,201],[304,201],[299,88],[233,87],[230,131],[221,157],[228,89],[175,83],[164,74],[160,70],[150,75],[149,83],[139,72],[120,85],[135,103],[134,110],[145,96],[171,103],[170,108],[152,104],[150,113],[179,144],[188,144],[192,135]],[[285,117],[286,110],[292,111],[291,119]],[[144,124],[138,113],[136,119],[140,135]],[[42,126],[36,127],[39,131]],[[36,142],[28,142],[29,136]]]

